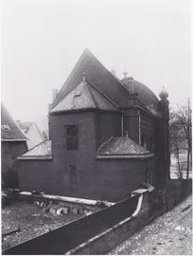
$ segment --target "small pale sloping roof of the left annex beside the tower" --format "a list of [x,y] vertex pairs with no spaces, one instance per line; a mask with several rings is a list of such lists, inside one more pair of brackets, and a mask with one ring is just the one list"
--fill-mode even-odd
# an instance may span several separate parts
[[26,154],[17,157],[18,159],[50,159],[52,158],[51,140],[45,140],[39,145],[30,149]]

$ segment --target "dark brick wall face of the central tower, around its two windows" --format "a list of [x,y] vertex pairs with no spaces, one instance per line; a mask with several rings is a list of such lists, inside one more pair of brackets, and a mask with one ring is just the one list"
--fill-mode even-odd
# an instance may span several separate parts
[[[51,115],[55,191],[62,195],[92,198],[92,177],[96,169],[95,113]],[[79,127],[79,150],[66,150],[64,125]],[[70,166],[76,166],[76,182],[71,181]],[[90,194],[91,192],[91,194]]]

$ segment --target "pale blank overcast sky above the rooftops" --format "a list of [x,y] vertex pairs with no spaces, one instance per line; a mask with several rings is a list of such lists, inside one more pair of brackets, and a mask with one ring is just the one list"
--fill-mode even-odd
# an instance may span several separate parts
[[4,0],[2,99],[14,119],[46,116],[85,47],[172,105],[191,92],[189,0]]

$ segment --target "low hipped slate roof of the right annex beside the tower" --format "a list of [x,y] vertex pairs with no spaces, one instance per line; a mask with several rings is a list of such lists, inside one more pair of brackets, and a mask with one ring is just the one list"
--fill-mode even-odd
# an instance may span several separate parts
[[150,152],[130,137],[110,137],[97,150],[97,158],[149,157]]

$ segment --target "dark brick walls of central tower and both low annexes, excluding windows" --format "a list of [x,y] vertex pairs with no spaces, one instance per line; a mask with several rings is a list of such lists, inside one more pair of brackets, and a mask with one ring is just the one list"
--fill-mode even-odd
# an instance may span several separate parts
[[[65,125],[72,124],[79,127],[79,150],[66,149]],[[119,133],[117,113],[51,115],[53,159],[21,160],[20,188],[113,202],[128,197],[139,183],[147,181],[152,158],[96,159],[98,141],[120,136]],[[73,181],[72,166],[76,169]]]

